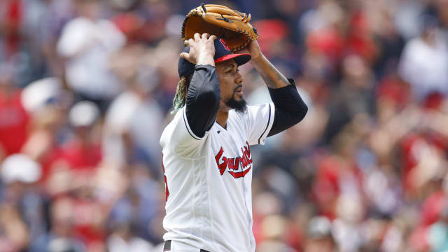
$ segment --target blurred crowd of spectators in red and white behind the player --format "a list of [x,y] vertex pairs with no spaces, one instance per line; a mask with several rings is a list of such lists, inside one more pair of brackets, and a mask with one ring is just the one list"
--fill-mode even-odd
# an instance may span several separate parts
[[[214,3],[251,13],[309,106],[253,146],[257,251],[448,251],[448,0]],[[1,252],[162,251],[159,139],[199,4],[0,1]]]

